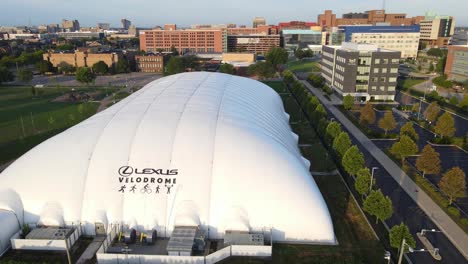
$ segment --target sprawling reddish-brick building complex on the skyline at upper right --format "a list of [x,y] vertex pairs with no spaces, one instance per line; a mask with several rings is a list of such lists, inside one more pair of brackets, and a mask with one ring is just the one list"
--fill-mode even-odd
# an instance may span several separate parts
[[391,26],[410,26],[419,24],[423,16],[406,17],[404,13],[387,14],[385,10],[369,10],[364,13],[347,13],[337,18],[331,10],[325,10],[324,14],[318,15],[317,23],[326,28],[341,25],[376,25],[386,23]]

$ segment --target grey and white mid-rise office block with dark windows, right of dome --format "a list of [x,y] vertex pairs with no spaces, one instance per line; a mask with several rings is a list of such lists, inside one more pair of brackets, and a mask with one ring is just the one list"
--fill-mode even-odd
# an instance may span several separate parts
[[356,101],[394,100],[400,52],[344,42],[323,46],[322,76],[340,96]]

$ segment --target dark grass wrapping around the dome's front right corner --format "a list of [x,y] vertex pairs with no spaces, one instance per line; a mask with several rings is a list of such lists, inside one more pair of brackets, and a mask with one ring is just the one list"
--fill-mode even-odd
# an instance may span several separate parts
[[338,175],[314,177],[332,216],[337,246],[273,244],[271,259],[230,258],[222,263],[384,263],[377,240]]

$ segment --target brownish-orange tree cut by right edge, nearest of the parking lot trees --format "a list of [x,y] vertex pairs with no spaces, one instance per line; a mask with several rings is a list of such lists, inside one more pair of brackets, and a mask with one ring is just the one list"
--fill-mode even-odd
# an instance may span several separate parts
[[460,167],[453,167],[447,171],[439,181],[439,187],[449,198],[449,205],[457,198],[465,196],[466,178]]

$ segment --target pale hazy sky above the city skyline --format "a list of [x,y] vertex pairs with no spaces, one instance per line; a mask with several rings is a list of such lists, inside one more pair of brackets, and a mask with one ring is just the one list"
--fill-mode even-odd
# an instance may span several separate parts
[[[137,26],[164,23],[245,24],[263,16],[269,24],[281,21],[316,21],[317,15],[331,9],[342,13],[381,9],[378,0],[0,0],[0,25],[60,23],[62,18],[78,19],[82,26],[97,22],[120,26],[128,18]],[[388,13],[424,15],[436,11],[455,17],[456,25],[468,25],[467,0],[386,0]]]

